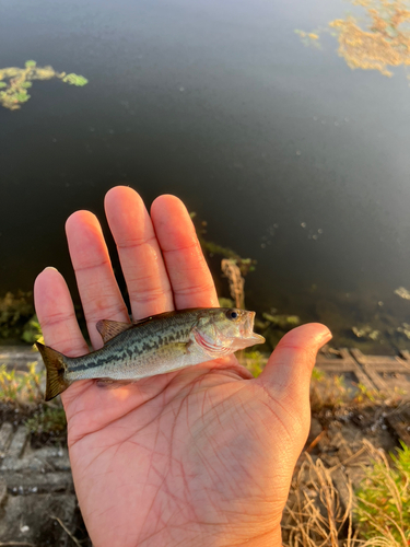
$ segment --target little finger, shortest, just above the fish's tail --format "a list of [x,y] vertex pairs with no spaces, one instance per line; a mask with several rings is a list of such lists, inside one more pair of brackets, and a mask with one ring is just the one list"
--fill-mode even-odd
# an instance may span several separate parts
[[89,348],[75,318],[67,283],[55,268],[46,268],[34,283],[36,314],[47,346],[70,357],[87,353]]

